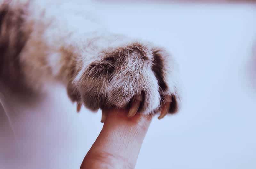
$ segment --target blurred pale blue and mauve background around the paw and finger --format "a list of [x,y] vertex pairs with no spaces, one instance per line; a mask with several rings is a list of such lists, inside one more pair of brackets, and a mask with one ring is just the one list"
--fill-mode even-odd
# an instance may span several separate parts
[[[109,30],[165,46],[180,64],[182,109],[153,119],[136,169],[255,169],[256,4],[95,3]],[[1,169],[80,167],[102,128],[100,112],[77,114],[60,86],[18,115],[23,108],[3,95]]]

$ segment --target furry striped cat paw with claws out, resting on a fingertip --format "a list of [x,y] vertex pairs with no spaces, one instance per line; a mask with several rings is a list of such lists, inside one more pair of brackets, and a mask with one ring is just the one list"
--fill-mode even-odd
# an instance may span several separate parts
[[104,50],[98,58],[67,86],[70,99],[77,102],[77,111],[82,104],[92,111],[125,107],[128,117],[137,112],[160,112],[159,119],[178,111],[178,66],[164,49],[134,42]]

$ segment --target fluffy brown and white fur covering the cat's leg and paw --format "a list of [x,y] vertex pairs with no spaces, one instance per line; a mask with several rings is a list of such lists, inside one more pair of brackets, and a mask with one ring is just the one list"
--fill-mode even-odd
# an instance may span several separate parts
[[165,97],[180,106],[178,67],[162,47],[112,34],[84,1],[2,1],[0,81],[38,92],[49,81],[67,87],[71,101],[99,108],[128,105],[154,114]]

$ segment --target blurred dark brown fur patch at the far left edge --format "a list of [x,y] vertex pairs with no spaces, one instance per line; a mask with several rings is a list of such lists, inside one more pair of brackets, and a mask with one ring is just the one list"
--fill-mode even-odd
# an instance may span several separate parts
[[25,88],[20,53],[31,30],[24,26],[26,9],[13,9],[8,3],[0,7],[0,78],[13,90]]

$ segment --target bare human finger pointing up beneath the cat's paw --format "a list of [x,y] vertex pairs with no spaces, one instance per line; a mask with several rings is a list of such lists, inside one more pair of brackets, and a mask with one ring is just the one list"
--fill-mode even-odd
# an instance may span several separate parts
[[80,169],[135,168],[152,118],[140,113],[128,118],[124,109],[105,109],[103,113],[107,114],[103,128]]

